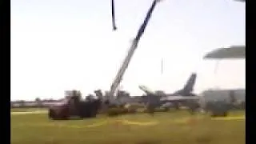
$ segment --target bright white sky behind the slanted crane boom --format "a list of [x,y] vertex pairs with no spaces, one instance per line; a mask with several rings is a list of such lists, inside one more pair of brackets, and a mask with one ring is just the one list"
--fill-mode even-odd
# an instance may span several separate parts
[[[131,40],[153,0],[116,0],[112,31],[110,0],[11,1],[11,100],[62,98],[109,90]],[[245,45],[245,4],[232,0],[165,0],[156,7],[122,88],[138,85],[172,92],[198,72],[195,92],[245,87],[245,60],[214,61],[214,48]],[[161,58],[164,73],[161,74]]]

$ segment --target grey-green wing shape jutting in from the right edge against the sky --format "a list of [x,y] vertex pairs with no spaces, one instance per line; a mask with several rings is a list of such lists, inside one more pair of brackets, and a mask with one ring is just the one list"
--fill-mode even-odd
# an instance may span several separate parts
[[206,54],[204,59],[246,58],[246,46],[219,48]]

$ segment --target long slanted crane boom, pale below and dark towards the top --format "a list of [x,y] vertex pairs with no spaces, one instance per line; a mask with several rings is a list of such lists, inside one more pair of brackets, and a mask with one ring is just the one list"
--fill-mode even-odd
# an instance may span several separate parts
[[152,12],[154,10],[154,7],[156,6],[157,2],[159,2],[159,0],[154,0],[152,5],[150,6],[150,9],[148,10],[148,12],[146,14],[146,18],[144,19],[144,22],[140,26],[140,28],[138,30],[138,33],[137,33],[136,37],[134,38],[134,40],[133,40],[133,42],[130,46],[130,50],[128,51],[128,54],[126,55],[126,58],[122,62],[122,66],[120,67],[120,69],[118,70],[118,74],[114,78],[114,82],[112,83],[112,85],[110,87],[110,97],[114,96],[114,92],[117,90],[120,82],[122,81],[123,74],[125,74],[125,72],[126,72],[126,69],[127,69],[128,65],[130,63],[130,59],[134,55],[134,51],[136,50],[136,48],[138,46],[138,42],[139,42],[140,38],[142,37],[142,34],[144,33],[145,29],[146,29],[147,23],[150,20],[151,14],[152,14]]

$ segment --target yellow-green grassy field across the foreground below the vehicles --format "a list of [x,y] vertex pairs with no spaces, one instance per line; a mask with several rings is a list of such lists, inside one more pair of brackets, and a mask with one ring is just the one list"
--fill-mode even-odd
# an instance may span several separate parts
[[[241,117],[235,112],[230,117]],[[186,112],[50,121],[46,114],[11,114],[12,144],[242,144],[245,121]]]

